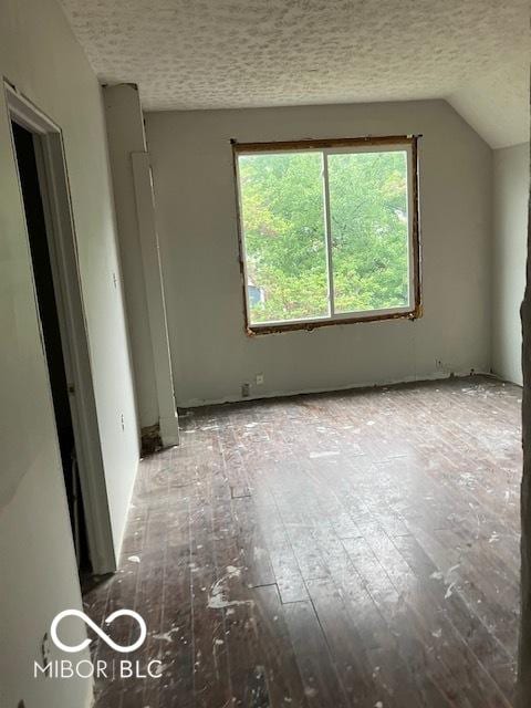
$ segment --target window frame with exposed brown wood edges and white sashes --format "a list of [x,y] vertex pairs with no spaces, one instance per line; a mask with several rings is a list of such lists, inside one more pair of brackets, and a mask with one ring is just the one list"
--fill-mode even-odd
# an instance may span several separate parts
[[[420,229],[418,208],[418,135],[398,135],[381,137],[354,137],[333,139],[302,139],[277,143],[239,143],[231,140],[235,174],[238,249],[240,275],[243,291],[244,331],[248,335],[273,334],[296,330],[314,330],[333,324],[356,324],[361,322],[381,322],[384,320],[416,320],[423,314],[420,281]],[[408,197],[408,267],[409,267],[409,303],[402,308],[369,310],[357,312],[334,311],[332,233],[330,226],[330,185],[327,179],[327,156],[339,153],[362,152],[406,152],[407,155],[407,197]],[[242,205],[239,175],[239,157],[254,153],[287,154],[319,152],[323,154],[323,209],[325,225],[326,274],[329,283],[330,314],[308,319],[251,323],[251,308],[247,287],[247,256],[242,223]]]

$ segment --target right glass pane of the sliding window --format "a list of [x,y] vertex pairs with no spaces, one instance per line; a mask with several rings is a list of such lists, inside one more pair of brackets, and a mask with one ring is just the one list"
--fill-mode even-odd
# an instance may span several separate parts
[[407,153],[329,155],[335,312],[409,304]]

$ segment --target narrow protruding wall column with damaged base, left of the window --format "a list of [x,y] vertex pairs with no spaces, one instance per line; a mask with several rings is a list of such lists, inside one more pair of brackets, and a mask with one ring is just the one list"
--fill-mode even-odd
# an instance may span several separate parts
[[139,436],[152,440],[144,430],[157,426],[167,447],[178,445],[179,427],[144,116],[137,86],[106,86],[103,95]]

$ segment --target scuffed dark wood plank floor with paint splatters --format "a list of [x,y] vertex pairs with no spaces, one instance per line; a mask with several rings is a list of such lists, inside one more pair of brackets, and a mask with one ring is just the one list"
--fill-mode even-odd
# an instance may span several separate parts
[[185,412],[84,597],[144,616],[129,658],[162,677],[102,679],[97,708],[511,707],[520,396],[473,377]]

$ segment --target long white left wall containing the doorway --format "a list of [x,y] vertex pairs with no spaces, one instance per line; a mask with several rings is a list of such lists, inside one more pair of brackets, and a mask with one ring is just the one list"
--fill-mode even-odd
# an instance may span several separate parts
[[[0,74],[64,132],[118,549],[138,449],[100,87],[54,0],[2,0]],[[81,597],[3,92],[0,291],[0,705],[81,708],[90,681],[32,677],[51,620]]]

